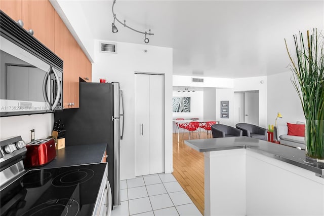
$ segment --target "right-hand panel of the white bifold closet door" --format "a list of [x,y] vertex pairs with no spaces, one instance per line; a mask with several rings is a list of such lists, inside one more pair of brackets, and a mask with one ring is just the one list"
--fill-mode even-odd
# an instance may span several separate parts
[[150,174],[164,172],[164,77],[150,75]]

